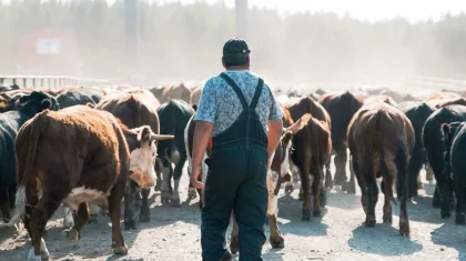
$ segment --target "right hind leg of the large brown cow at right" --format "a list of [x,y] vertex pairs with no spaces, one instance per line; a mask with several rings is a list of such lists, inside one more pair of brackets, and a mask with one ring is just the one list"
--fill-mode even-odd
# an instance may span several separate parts
[[396,181],[397,181],[397,187],[401,188],[401,191],[402,191],[401,207],[399,207],[399,235],[409,235],[409,218],[408,218],[407,209],[406,209],[406,200],[408,195],[408,188],[407,188],[408,161],[409,161],[409,158],[406,151],[401,149],[395,157],[395,164],[396,164],[396,170],[397,170]]

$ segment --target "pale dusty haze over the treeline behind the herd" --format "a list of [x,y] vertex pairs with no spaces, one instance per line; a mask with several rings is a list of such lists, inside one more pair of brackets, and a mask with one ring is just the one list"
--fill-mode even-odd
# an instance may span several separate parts
[[[122,0],[3,3],[0,70],[140,84],[202,82],[222,70],[223,43],[236,36],[233,9],[223,3],[140,1],[138,11],[139,29],[131,29]],[[414,76],[466,78],[465,14],[436,22],[369,23],[334,13],[281,17],[250,9],[247,21],[252,70],[273,86],[389,86]],[[62,36],[67,40],[60,53],[37,54],[37,39]]]

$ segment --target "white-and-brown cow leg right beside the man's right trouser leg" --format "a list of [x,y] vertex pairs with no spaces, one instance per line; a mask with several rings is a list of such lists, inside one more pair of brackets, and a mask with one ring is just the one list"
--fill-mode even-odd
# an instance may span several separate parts
[[274,249],[285,247],[282,233],[280,232],[280,229],[278,229],[278,224],[276,223],[276,217],[278,213],[278,195],[275,194],[275,189],[276,187],[278,187],[280,189],[280,185],[281,185],[280,179],[281,179],[280,173],[275,171],[267,172],[267,191],[269,191],[267,221],[269,221],[269,228],[270,228],[269,242]]

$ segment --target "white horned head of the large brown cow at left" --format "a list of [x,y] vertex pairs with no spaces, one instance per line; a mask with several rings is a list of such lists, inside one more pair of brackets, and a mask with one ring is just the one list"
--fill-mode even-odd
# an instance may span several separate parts
[[151,188],[155,184],[156,140],[173,139],[174,135],[161,135],[152,132],[149,126],[130,130],[136,134],[139,148],[131,151],[130,179],[141,188]]

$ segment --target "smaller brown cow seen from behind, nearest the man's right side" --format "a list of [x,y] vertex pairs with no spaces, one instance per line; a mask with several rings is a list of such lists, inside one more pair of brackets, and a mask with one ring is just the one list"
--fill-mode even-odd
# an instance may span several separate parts
[[332,153],[331,127],[326,121],[305,113],[300,119],[300,127],[292,138],[291,160],[300,170],[303,190],[303,221],[321,215],[321,207],[325,207],[326,195],[323,184],[324,165]]

